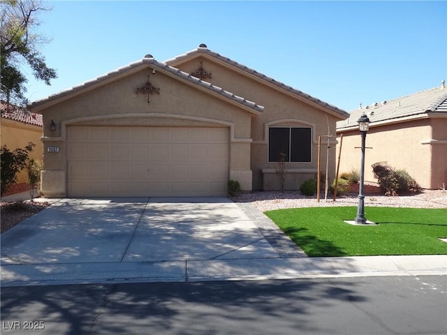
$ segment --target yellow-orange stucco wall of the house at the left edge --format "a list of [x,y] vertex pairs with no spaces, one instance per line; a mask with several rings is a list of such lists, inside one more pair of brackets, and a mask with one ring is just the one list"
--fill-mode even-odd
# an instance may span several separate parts
[[[6,144],[8,149],[24,149],[29,142],[36,144],[33,151],[29,154],[29,158],[34,158],[37,161],[43,160],[42,154],[42,127],[31,124],[24,124],[22,122],[12,121],[10,119],[1,119],[1,146]],[[22,170],[17,174],[17,184],[28,181],[28,174],[26,170]]]

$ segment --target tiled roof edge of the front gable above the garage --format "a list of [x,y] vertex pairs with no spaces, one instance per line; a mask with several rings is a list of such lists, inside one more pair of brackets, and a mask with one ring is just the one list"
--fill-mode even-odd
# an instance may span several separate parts
[[94,80],[89,80],[88,82],[84,82],[83,84],[80,84],[78,86],[72,87],[71,89],[67,89],[65,91],[61,91],[58,94],[54,94],[52,96],[48,96],[47,98],[43,98],[39,101],[35,101],[31,104],[31,108],[40,107],[42,105],[45,105],[46,103],[49,103],[51,101],[54,101],[58,98],[63,98],[64,96],[69,96],[75,92],[81,91],[82,89],[86,89],[87,87],[91,87],[95,84],[98,84],[100,82],[103,82],[105,80],[109,80],[117,75],[121,75],[124,73],[128,73],[129,71],[140,68],[141,66],[147,66],[147,64],[150,64],[154,68],[159,68],[161,70],[166,70],[168,73],[172,73],[173,75],[180,77],[184,80],[188,80],[189,82],[192,82],[194,84],[197,84],[200,87],[204,87],[205,89],[208,89],[214,93],[217,93],[225,98],[228,98],[232,101],[235,101],[236,103],[240,103],[241,105],[244,105],[245,107],[249,107],[253,112],[262,112],[264,110],[264,107],[261,105],[258,105],[252,101],[248,101],[245,98],[242,98],[240,96],[236,96],[235,94],[225,91],[221,87],[217,87],[215,85],[210,84],[209,82],[205,82],[203,80],[200,80],[196,77],[193,77],[189,73],[184,73],[181,70],[178,70],[177,68],[173,68],[172,66],[169,66],[168,64],[161,63],[159,61],[156,61],[152,55],[147,55],[145,58],[143,58],[140,61],[135,61],[127,66],[123,66],[122,68],[118,68],[117,70],[113,70],[110,73],[107,73],[105,75],[101,75],[100,77],[96,77]]

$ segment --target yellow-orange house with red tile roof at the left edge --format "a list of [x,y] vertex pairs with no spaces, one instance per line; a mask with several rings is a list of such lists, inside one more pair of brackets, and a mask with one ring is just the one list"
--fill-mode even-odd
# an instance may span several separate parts
[[[42,115],[31,113],[20,107],[11,106],[7,108],[6,103],[0,102],[1,110],[1,146],[13,151],[17,148],[24,149],[29,142],[36,144],[29,158],[42,161],[42,141],[43,135]],[[17,185],[11,186],[6,194],[11,194],[27,190],[28,174],[22,170],[17,175]]]

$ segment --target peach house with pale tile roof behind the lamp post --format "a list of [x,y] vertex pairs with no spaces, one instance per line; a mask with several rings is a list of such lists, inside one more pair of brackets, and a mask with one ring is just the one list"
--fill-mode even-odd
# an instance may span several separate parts
[[[422,188],[447,185],[447,88],[427,89],[391,101],[374,103],[337,122],[343,134],[340,172],[360,167],[358,118],[365,113],[371,124],[366,137],[365,181],[374,179],[371,165],[387,161],[404,169]],[[339,141],[340,142],[340,141]]]

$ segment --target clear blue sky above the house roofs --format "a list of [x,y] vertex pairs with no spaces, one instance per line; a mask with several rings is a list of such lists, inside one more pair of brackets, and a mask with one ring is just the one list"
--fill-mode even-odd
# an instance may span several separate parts
[[200,43],[348,112],[447,80],[446,1],[49,3],[38,32],[58,78],[29,77],[30,101]]

